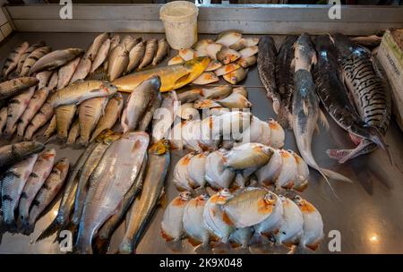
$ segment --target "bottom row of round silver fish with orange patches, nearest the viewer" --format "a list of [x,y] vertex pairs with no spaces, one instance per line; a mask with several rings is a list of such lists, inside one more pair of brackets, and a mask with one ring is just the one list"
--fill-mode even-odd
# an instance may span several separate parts
[[299,196],[290,200],[264,188],[248,187],[193,199],[189,192],[180,193],[165,210],[161,234],[167,242],[187,238],[205,249],[228,243],[242,249],[271,243],[315,251],[323,238],[323,222],[313,204]]

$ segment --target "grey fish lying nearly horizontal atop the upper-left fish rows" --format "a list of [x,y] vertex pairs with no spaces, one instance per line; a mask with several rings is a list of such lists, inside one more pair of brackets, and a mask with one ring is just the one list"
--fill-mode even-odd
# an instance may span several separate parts
[[56,50],[50,52],[47,55],[41,57],[31,68],[29,75],[34,72],[43,70],[54,70],[64,64],[67,64],[79,55],[82,55],[84,51],[80,48],[67,48],[62,50]]

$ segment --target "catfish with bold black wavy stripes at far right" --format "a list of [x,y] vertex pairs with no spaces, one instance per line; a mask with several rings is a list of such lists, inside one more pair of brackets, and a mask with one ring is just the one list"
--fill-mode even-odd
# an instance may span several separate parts
[[[371,55],[363,47],[356,46],[349,38],[342,34],[330,36],[336,49],[343,68],[343,79],[347,89],[354,100],[358,114],[364,123],[375,127],[379,136],[385,135],[390,123],[391,98],[385,79],[380,77],[376,64],[373,64]],[[385,149],[392,162],[392,157],[386,144],[376,138],[371,139],[374,143]],[[362,140],[353,150],[328,150],[330,157],[339,158],[339,162],[369,153],[375,149],[368,140]],[[339,154],[338,154],[339,153]]]

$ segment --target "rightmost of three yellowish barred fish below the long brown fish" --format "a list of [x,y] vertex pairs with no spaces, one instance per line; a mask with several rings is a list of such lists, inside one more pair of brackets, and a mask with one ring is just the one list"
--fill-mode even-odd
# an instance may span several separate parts
[[124,98],[120,93],[117,93],[114,97],[109,98],[107,106],[105,107],[105,114],[99,118],[99,122],[92,132],[91,140],[94,140],[98,135],[106,129],[111,129],[120,118],[124,107]]

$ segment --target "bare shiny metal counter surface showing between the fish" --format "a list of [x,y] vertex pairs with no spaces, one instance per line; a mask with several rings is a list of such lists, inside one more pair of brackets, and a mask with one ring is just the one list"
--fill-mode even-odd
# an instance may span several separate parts
[[[96,35],[96,33],[14,33],[0,44],[1,62],[4,62],[6,55],[13,50],[13,47],[24,40],[30,43],[44,40],[53,49],[86,48]],[[150,35],[141,34],[141,36],[146,38]],[[152,36],[159,35],[153,34]],[[275,38],[279,47],[283,37],[276,36]],[[242,84],[249,87],[247,89],[249,100],[253,103],[253,115],[262,120],[275,117],[271,102],[266,98],[265,90],[262,88],[256,67],[249,71]],[[301,195],[311,201],[322,214],[325,237],[317,252],[330,253],[328,234],[331,230],[337,230],[341,234],[341,253],[403,253],[403,133],[392,118],[386,141],[390,146],[395,166],[390,165],[386,153],[381,149],[375,150],[372,154],[357,157],[345,165],[339,165],[327,157],[325,150],[350,148],[353,147],[353,144],[348,139],[347,133],[339,128],[329,115],[328,120],[330,130],[326,132],[321,127],[320,134],[314,135],[313,155],[319,165],[347,175],[354,183],[331,181],[331,185],[339,196],[339,200],[337,200],[322,176],[311,169],[309,186]],[[69,157],[72,164],[81,155],[81,150],[77,149],[61,149],[54,144],[48,144],[47,147],[56,148],[57,157]],[[285,149],[297,150],[292,132],[286,132]],[[175,186],[171,183],[172,170],[176,161],[184,154],[185,152],[172,153],[171,171],[166,185],[168,201],[177,194]],[[39,220],[35,232],[30,237],[21,234],[4,234],[0,244],[0,253],[61,253],[58,245],[53,243],[55,237],[34,242],[55,217],[56,211],[57,204]],[[162,240],[159,234],[162,215],[163,208],[158,208],[136,252],[193,253],[192,246],[186,241],[183,242],[182,249],[173,251]],[[114,234],[110,252],[116,251],[123,233],[124,224]]]

